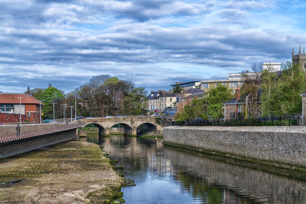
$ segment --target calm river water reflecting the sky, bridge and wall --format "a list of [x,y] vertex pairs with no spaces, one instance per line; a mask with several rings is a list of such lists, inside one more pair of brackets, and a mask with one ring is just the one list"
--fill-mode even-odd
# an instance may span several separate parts
[[124,167],[136,186],[123,187],[127,204],[306,204],[306,181],[164,147],[162,138],[88,135]]

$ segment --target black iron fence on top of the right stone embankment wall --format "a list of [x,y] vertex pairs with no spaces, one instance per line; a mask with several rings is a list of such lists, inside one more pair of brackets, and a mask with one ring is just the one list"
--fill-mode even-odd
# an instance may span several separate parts
[[306,125],[306,117],[259,117],[231,118],[220,120],[172,121],[172,126],[300,126]]

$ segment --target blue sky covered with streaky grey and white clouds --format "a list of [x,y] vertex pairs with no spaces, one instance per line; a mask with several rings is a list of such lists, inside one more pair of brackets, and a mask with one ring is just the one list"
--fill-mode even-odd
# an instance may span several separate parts
[[96,75],[147,91],[218,80],[306,47],[306,2],[286,0],[1,0],[0,91]]

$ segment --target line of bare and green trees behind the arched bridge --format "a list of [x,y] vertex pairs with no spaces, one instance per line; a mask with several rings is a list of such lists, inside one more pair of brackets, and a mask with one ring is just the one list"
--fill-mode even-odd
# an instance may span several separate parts
[[[121,80],[110,75],[93,76],[87,83],[68,93],[49,84],[47,88],[30,89],[37,100],[42,101],[43,118],[63,118],[66,104],[66,117],[71,117],[69,106],[75,106],[77,115],[84,117],[103,117],[107,115],[137,115],[147,111],[147,90],[136,87],[131,80]],[[74,117],[74,107],[72,117]]]

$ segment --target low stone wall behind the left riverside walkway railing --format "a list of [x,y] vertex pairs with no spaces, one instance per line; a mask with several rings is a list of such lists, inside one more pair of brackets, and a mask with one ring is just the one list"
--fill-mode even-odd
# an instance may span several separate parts
[[[76,125],[77,122],[68,123],[69,126]],[[1,136],[7,136],[7,135],[16,135],[16,126],[17,124],[13,125],[0,125],[0,137]],[[26,133],[26,132],[39,132],[39,131],[45,131],[55,128],[63,128],[67,127],[66,123],[46,123],[46,124],[21,124],[20,126],[20,133]]]

